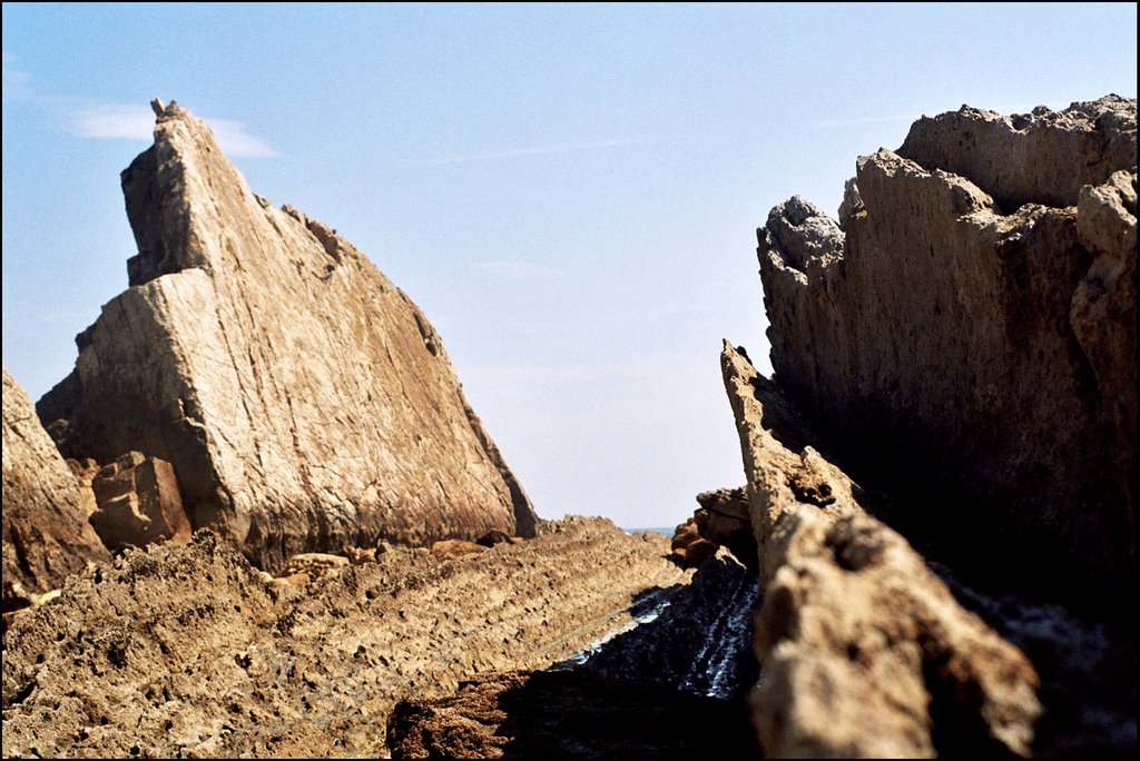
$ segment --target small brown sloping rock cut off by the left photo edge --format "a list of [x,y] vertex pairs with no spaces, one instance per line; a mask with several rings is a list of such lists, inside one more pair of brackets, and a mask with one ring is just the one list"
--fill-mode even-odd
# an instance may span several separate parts
[[[87,522],[79,483],[32,402],[3,368],[3,609],[109,555]],[[26,594],[18,594],[18,583]],[[21,602],[23,600],[23,603]]]

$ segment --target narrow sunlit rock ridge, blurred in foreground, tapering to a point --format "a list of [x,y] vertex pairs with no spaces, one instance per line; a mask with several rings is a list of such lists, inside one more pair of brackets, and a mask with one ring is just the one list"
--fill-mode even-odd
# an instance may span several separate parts
[[[763,604],[754,721],[777,758],[1028,755],[1037,674],[964,611],[727,343]],[[873,728],[873,729],[872,729]]]

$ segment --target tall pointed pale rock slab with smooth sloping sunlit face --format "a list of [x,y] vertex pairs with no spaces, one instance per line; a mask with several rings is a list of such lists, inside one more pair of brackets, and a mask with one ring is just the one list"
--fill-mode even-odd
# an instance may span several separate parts
[[377,538],[532,535],[424,314],[334,230],[251,193],[206,125],[157,111],[122,174],[130,288],[38,406],[62,451],[169,461],[194,527],[263,566]]

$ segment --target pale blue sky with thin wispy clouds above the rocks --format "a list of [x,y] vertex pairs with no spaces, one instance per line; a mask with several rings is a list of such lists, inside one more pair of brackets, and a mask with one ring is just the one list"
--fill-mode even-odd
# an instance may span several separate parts
[[756,228],[834,214],[922,114],[1135,97],[1117,5],[3,3],[3,363],[38,399],[127,287],[154,97],[442,336],[543,517],[743,482],[720,339],[769,371]]

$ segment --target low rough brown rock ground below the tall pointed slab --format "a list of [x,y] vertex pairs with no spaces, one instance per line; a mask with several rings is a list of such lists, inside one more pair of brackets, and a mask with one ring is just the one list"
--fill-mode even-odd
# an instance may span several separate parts
[[3,755],[382,754],[399,697],[544,669],[629,622],[635,597],[685,583],[667,551],[577,518],[456,560],[392,548],[278,587],[205,531],[128,550],[8,631]]

